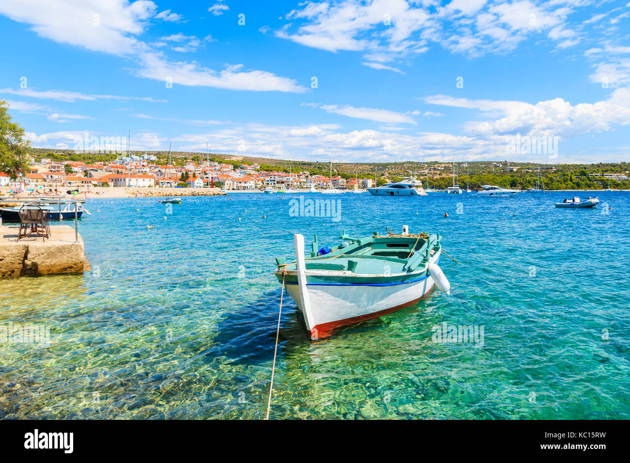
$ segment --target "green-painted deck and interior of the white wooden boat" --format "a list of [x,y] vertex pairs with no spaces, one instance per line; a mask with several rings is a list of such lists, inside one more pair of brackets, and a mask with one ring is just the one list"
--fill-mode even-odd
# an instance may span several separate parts
[[[318,255],[325,249],[317,235],[311,244],[311,255],[306,257],[307,270],[348,270],[360,274],[414,272],[440,248],[440,235],[381,236],[378,232],[366,238],[353,238],[345,231],[339,237],[343,243],[333,246],[329,253]],[[295,260],[277,258],[278,269],[295,270]]]

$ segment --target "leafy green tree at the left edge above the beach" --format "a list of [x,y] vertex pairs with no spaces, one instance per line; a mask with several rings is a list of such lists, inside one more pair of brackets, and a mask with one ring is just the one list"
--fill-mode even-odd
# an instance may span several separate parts
[[28,172],[30,144],[24,139],[24,129],[11,122],[6,101],[0,100],[0,172],[16,180]]

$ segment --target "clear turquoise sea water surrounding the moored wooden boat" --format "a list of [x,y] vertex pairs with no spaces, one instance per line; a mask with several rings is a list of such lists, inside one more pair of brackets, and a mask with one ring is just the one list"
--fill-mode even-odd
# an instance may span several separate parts
[[[321,341],[285,298],[272,418],[630,418],[630,193],[592,195],[609,214],[553,207],[567,192],[304,195],[341,200],[339,222],[290,217],[280,194],[168,215],[155,198],[91,200],[92,273],[0,282],[0,325],[51,340],[0,343],[0,418],[264,418],[273,258],[294,232],[336,244],[403,224],[442,234],[452,294]],[[483,326],[483,347],[433,342],[444,322]]]

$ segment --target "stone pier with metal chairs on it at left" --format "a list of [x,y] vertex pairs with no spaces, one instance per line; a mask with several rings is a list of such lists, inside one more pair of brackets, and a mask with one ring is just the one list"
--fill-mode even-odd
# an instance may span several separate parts
[[0,226],[0,278],[80,273],[88,266],[81,235],[74,241],[74,227],[51,225],[45,241],[35,233],[17,241],[19,229]]

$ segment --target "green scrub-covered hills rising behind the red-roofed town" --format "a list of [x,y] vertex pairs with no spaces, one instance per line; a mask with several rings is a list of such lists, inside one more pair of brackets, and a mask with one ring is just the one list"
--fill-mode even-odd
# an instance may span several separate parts
[[[151,154],[157,157],[159,164],[168,162],[168,152],[132,151],[140,156]],[[54,150],[31,148],[31,156],[36,160],[49,157],[54,161],[84,161],[86,163],[111,162],[126,152],[103,154],[99,152],[78,153],[72,150]],[[205,161],[206,154],[200,152],[173,152],[172,163],[183,166],[187,162]],[[237,156],[230,154],[210,153],[210,160],[232,164],[236,168],[242,164],[258,164],[261,171],[308,172],[311,175],[330,175],[330,164],[326,161],[291,161],[289,159],[270,159],[265,157]],[[497,185],[504,188],[532,188],[536,186],[537,164],[518,163],[512,161],[469,161],[458,163],[455,168],[455,181],[460,186],[471,189],[480,185]],[[505,169],[515,169],[505,171]],[[630,163],[599,164],[540,164],[541,188],[546,190],[602,190],[608,188],[606,173],[628,176]],[[425,185],[432,188],[446,188],[453,183],[452,163],[439,161],[397,161],[388,163],[333,163],[333,175],[349,179],[378,177],[379,185],[387,181],[399,180],[408,176],[417,176]],[[468,174],[467,174],[468,173]],[[428,178],[427,178],[428,176]],[[468,177],[468,178],[467,178]],[[610,188],[630,190],[629,180],[610,180]]]

